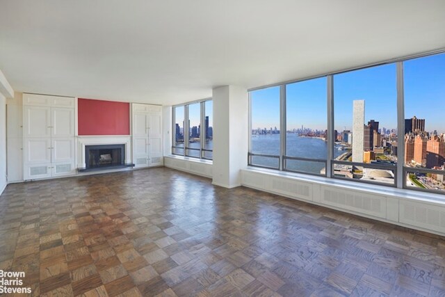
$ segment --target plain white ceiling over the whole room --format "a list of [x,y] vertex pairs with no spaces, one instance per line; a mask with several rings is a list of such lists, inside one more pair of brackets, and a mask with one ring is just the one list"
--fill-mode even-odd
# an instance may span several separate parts
[[0,0],[16,91],[153,104],[445,48],[444,0]]

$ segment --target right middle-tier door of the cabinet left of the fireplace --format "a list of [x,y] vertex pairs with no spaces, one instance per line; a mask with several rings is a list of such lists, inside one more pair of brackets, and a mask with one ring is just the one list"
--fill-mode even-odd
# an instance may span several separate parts
[[74,109],[51,108],[51,136],[74,136]]

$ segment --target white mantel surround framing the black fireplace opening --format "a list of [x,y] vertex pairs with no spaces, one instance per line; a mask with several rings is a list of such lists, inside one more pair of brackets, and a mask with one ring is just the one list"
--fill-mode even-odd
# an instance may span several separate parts
[[77,168],[86,168],[86,145],[125,145],[125,163],[131,163],[131,136],[105,135],[105,136],[77,136]]

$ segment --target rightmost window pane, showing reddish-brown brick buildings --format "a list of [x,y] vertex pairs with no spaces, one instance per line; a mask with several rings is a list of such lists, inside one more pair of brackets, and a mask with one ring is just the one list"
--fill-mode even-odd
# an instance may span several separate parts
[[445,191],[445,54],[403,62],[407,188]]

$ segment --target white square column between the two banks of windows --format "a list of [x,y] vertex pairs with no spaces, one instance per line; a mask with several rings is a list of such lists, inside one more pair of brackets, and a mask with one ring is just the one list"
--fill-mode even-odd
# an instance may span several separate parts
[[241,185],[248,162],[248,92],[238,86],[213,88],[213,184]]

